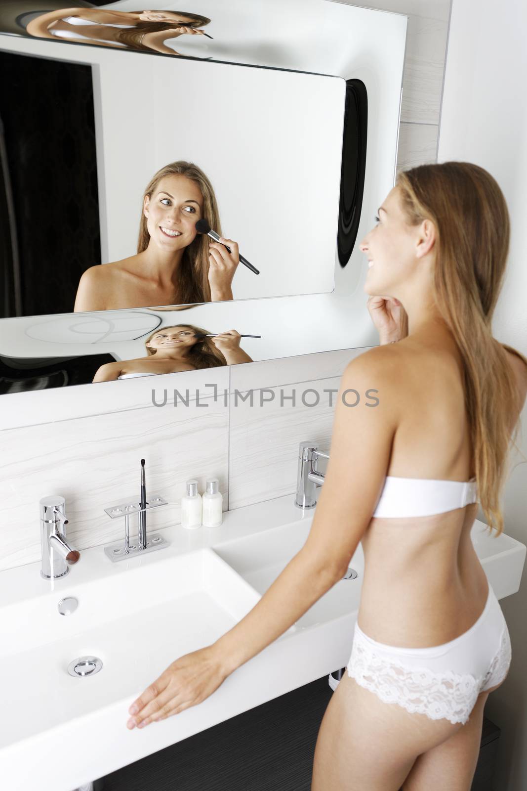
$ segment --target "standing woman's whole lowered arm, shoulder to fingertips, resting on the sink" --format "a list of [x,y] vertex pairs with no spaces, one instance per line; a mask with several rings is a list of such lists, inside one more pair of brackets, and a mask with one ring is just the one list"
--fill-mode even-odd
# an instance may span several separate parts
[[401,369],[396,350],[376,346],[344,371],[334,402],[326,479],[302,549],[239,623],[213,645],[179,657],[137,698],[130,706],[129,728],[204,700],[344,576],[370,524],[390,463],[401,403],[392,386]]

